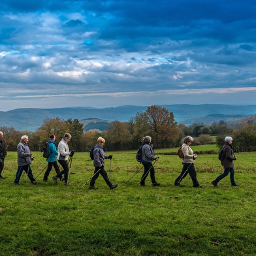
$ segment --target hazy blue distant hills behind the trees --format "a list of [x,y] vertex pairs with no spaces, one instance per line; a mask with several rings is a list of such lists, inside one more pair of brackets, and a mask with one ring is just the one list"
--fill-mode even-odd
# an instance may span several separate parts
[[[237,123],[247,116],[256,114],[256,105],[172,104],[160,106],[173,112],[175,120],[185,125],[199,122],[210,125],[212,122],[219,120],[225,120],[228,124],[231,124]],[[61,118],[64,120],[77,118],[78,120],[85,121],[85,131],[89,128],[98,129],[95,128],[98,125],[101,125],[100,128],[104,129],[104,127],[107,126],[106,123],[109,123],[109,121],[128,121],[131,117],[135,116],[137,112],[144,112],[147,108],[148,106],[130,105],[113,108],[18,108],[7,112],[0,112],[0,127],[12,126],[14,129],[20,131],[35,131],[46,118]],[[101,121],[99,122],[99,120]],[[95,123],[95,125],[93,125],[93,123]],[[87,125],[89,126],[87,127]]]

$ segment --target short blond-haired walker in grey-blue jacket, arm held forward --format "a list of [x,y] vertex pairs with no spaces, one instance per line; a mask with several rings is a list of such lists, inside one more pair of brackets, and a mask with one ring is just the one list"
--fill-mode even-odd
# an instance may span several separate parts
[[95,167],[93,177],[91,178],[91,182],[89,184],[89,189],[98,189],[98,187],[95,187],[94,184],[99,177],[99,174],[103,176],[104,181],[109,186],[110,189],[115,189],[118,184],[112,184],[110,180],[108,179],[108,174],[106,173],[106,170],[104,170],[104,161],[105,159],[112,159],[112,155],[105,155],[103,146],[105,144],[105,140],[102,137],[97,138],[97,145],[95,146],[93,150],[93,166]]

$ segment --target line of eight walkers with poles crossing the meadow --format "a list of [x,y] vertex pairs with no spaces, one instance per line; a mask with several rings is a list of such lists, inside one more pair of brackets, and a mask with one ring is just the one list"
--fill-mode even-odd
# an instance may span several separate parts
[[[46,159],[48,162],[48,166],[46,172],[44,173],[43,182],[48,182],[48,176],[50,175],[50,171],[52,167],[56,170],[56,175],[52,177],[52,180],[57,184],[58,180],[64,182],[65,185],[72,185],[69,182],[69,162],[72,161],[72,156],[74,155],[74,151],[69,151],[68,142],[71,140],[71,135],[69,133],[65,133],[63,138],[58,145],[56,145],[56,136],[50,135],[48,140],[48,153],[49,157]],[[182,144],[182,153],[184,155],[182,159],[182,172],[178,178],[176,178],[174,185],[180,185],[180,182],[189,174],[191,180],[193,182],[193,187],[202,187],[197,180],[197,171],[195,170],[194,162],[197,159],[197,154],[193,153],[193,150],[190,148],[190,145],[194,139],[191,136],[185,136],[184,143]],[[22,172],[25,171],[31,184],[37,185],[39,184],[35,178],[33,177],[33,173],[31,170],[31,162],[34,157],[29,150],[28,143],[29,137],[27,135],[23,135],[20,143],[17,146],[17,162],[18,162],[18,170],[16,172],[16,178],[14,180],[14,185],[20,185],[20,178],[22,176]],[[89,178],[89,189],[98,189],[95,187],[95,182],[99,177],[99,174],[103,176],[104,181],[108,185],[110,189],[115,189],[118,184],[112,184],[110,179],[108,178],[108,174],[106,170],[104,170],[104,159],[112,159],[112,155],[105,155],[103,146],[105,144],[105,140],[102,137],[97,139],[97,145],[93,148],[93,166],[95,167],[93,176]],[[146,187],[145,180],[150,173],[150,178],[153,186],[161,185],[155,180],[155,169],[153,167],[153,161],[159,161],[159,157],[155,157],[155,152],[153,150],[152,138],[150,136],[145,136],[142,139],[142,159],[141,163],[144,167],[144,173],[140,179],[140,186]],[[236,182],[234,182],[234,163],[233,161],[237,158],[234,156],[234,152],[232,150],[232,137],[225,137],[225,144],[223,146],[223,154],[225,158],[221,162],[224,167],[223,174],[219,175],[216,180],[212,181],[212,185],[217,187],[217,183],[225,178],[230,173],[231,185],[238,186]],[[2,176],[2,171],[4,167],[5,157],[7,157],[7,152],[5,149],[5,140],[3,139],[3,133],[0,131],[0,178],[4,179]],[[71,157],[71,158],[69,158]],[[69,161],[68,161],[69,159]],[[59,169],[59,165],[63,168],[63,170]],[[72,163],[72,162],[71,162]],[[70,165],[71,166],[71,165]],[[143,168],[142,167],[142,168]],[[87,184],[87,182],[86,182]]]

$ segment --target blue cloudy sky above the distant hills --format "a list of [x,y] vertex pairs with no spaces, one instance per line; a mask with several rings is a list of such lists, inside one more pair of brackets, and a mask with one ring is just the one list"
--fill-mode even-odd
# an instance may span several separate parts
[[255,104],[253,1],[0,2],[2,111]]

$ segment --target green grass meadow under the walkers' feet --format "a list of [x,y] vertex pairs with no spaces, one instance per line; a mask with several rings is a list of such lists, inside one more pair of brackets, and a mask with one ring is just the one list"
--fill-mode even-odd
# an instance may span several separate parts
[[[216,145],[192,146],[194,152],[215,150]],[[22,176],[13,185],[16,152],[8,152],[0,180],[0,255],[256,255],[256,152],[236,153],[235,180],[229,176],[214,187],[223,172],[215,154],[199,154],[195,161],[202,188],[194,188],[187,176],[181,186],[174,180],[182,169],[178,148],[155,150],[154,165],[159,187],[150,177],[138,184],[142,165],[136,151],[107,152],[105,161],[116,189],[110,190],[99,176],[97,190],[89,190],[93,175],[89,153],[75,153],[69,182],[42,182],[46,167],[35,152],[31,165],[39,185]],[[111,165],[110,165],[111,163]],[[111,170],[111,172],[110,172]],[[82,188],[81,188],[82,187]]]

